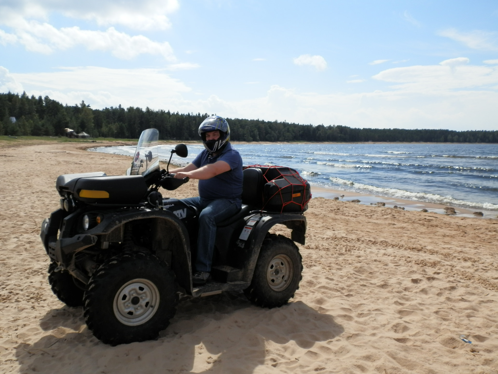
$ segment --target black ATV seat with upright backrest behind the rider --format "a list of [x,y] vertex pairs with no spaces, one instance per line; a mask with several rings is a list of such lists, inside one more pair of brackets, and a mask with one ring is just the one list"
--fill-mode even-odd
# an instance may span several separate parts
[[239,219],[244,218],[251,210],[261,208],[262,190],[261,178],[263,174],[260,169],[249,168],[243,171],[244,181],[242,184],[242,207],[233,216],[219,222],[218,227],[225,227]]

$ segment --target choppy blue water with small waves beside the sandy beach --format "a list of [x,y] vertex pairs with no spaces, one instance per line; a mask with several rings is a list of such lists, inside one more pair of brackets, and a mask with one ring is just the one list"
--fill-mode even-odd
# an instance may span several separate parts
[[[244,165],[296,169],[312,185],[386,197],[498,210],[498,145],[495,144],[236,144]],[[171,145],[159,148],[168,160]],[[204,147],[188,145],[191,162]],[[132,156],[135,148],[98,152]],[[126,168],[124,168],[126,169]]]

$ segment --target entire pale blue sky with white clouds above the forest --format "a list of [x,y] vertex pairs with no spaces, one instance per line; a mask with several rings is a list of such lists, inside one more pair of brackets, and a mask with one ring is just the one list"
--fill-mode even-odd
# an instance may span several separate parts
[[0,0],[0,92],[358,128],[498,130],[498,2]]

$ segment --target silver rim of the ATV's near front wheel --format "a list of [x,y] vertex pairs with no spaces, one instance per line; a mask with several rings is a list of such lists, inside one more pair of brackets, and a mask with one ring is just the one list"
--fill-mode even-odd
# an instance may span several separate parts
[[114,297],[114,315],[126,326],[138,326],[150,320],[159,305],[159,290],[148,279],[126,282]]

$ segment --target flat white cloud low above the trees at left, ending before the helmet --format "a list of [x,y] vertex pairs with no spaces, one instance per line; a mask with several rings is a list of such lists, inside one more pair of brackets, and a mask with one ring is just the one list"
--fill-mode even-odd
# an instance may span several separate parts
[[[54,72],[9,73],[0,67],[1,91],[48,95],[64,104],[81,100],[92,107],[140,106],[167,109],[182,100],[191,88],[171,78],[162,69],[109,69],[104,67],[65,67]],[[177,106],[175,104],[175,106]],[[169,106],[173,108],[173,106]]]

